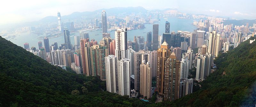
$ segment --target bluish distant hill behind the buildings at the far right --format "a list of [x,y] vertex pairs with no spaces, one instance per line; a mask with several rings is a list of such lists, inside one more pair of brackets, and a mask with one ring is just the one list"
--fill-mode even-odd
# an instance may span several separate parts
[[253,23],[256,23],[256,19],[254,20],[225,20],[223,22],[224,25],[228,25],[228,24],[233,24],[233,25],[238,25],[238,26],[241,26],[241,25],[246,25],[246,23],[249,24],[249,26],[252,26]]

